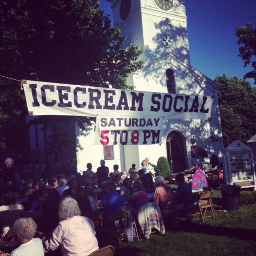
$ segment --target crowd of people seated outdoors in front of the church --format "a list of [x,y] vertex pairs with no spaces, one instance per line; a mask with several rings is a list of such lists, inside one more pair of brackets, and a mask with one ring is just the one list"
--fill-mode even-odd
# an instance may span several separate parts
[[[66,230],[73,232],[79,223],[83,223],[79,230],[88,232],[91,238],[90,242],[88,241],[87,244],[83,245],[90,248],[87,248],[88,252],[96,250],[98,242],[93,232],[93,223],[88,218],[83,217],[86,216],[86,213],[96,210],[102,211],[104,223],[107,222],[112,213],[118,211],[124,204],[133,205],[136,213],[139,207],[149,203],[149,194],[154,194],[154,198],[152,197],[151,200],[154,200],[161,209],[165,201],[174,198],[178,202],[177,207],[182,207],[185,204],[186,196],[191,193],[191,187],[188,187],[188,184],[184,182],[184,176],[182,178],[179,174],[176,176],[178,189],[174,194],[172,189],[164,184],[163,177],[156,177],[154,182],[153,175],[150,172],[145,173],[146,168],[139,172],[133,164],[129,172],[123,174],[119,172],[119,166],[114,165],[115,175],[110,176],[109,168],[105,166],[104,160],[100,161],[100,165],[95,173],[92,171],[92,165],[88,163],[83,176],[72,174],[66,178],[54,176],[47,180],[30,178],[24,186],[22,194],[20,194],[20,197],[24,199],[22,204],[16,203],[17,190],[11,191],[8,190],[8,185],[4,186],[1,190],[0,202],[2,237],[14,225],[15,220],[21,217],[32,218],[36,222],[38,230],[43,233],[52,233],[54,230],[51,238],[46,237],[44,239],[43,243],[46,249],[55,250],[61,245],[62,252],[66,253],[71,248],[73,250],[75,246],[75,243],[71,245],[69,238],[65,237],[67,235]],[[13,176],[15,179],[17,178],[16,174]],[[123,180],[121,174],[125,177]],[[83,182],[81,182],[81,177],[84,179]],[[101,194],[99,191],[102,191]],[[71,211],[70,215],[65,212],[67,210]],[[7,217],[4,217],[4,211],[12,214],[7,214]],[[161,212],[165,214],[164,209],[161,209]],[[70,230],[69,226],[72,226]],[[78,236],[76,231],[75,236]],[[78,246],[78,249],[74,250],[80,252],[83,249]]]

